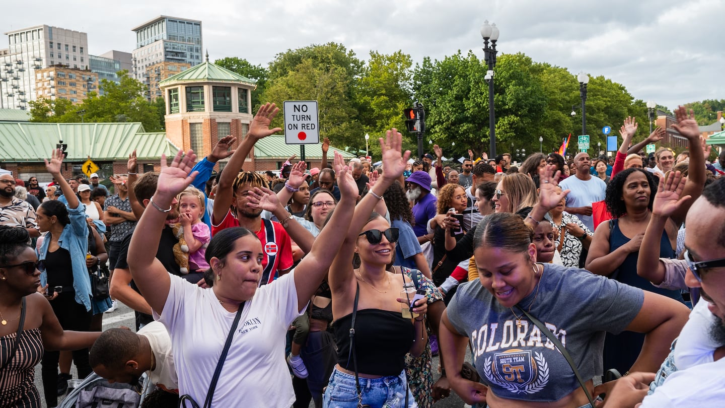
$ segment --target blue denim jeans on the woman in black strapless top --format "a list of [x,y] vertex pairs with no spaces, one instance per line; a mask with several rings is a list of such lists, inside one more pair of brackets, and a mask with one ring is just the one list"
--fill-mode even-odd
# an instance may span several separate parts
[[[413,393],[407,389],[405,370],[400,375],[382,378],[360,378],[360,391],[363,393],[363,405],[370,407],[405,407],[405,393],[408,394],[407,408],[418,408]],[[323,408],[357,408],[357,388],[355,375],[349,375],[335,369],[330,376],[323,397]]]

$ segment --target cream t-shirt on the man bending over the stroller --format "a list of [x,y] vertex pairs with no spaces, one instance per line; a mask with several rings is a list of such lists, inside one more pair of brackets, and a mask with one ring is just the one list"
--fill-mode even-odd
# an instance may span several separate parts
[[154,385],[162,385],[167,391],[178,390],[179,381],[174,367],[174,355],[171,351],[171,338],[166,327],[160,322],[151,322],[138,335],[149,339],[151,351],[154,353],[156,367],[149,371],[149,379]]

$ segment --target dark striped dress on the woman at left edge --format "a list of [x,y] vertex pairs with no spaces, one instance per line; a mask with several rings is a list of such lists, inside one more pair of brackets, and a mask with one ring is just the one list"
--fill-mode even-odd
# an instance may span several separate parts
[[[16,334],[0,337],[0,364],[11,358],[9,354]],[[41,330],[24,330],[12,361],[0,372],[0,408],[41,408],[34,379],[35,367],[42,357]]]

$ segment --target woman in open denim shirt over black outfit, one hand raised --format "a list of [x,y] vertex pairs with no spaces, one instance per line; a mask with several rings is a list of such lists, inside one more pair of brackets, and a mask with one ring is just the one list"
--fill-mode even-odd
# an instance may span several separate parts
[[[91,280],[86,267],[88,253],[88,224],[86,206],[61,174],[63,152],[54,150],[46,169],[58,183],[68,204],[60,200],[46,201],[38,208],[38,229],[47,232],[38,251],[46,262],[41,275],[46,296],[64,330],[88,331],[91,327]],[[88,348],[73,351],[73,361],[79,378],[91,373]],[[43,393],[48,407],[57,405],[59,352],[43,355]],[[65,379],[70,374],[64,373]]]

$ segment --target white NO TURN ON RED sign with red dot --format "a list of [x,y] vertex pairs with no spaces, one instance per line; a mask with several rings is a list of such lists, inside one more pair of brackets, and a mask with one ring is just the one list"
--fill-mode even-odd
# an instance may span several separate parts
[[284,142],[320,143],[317,101],[284,101]]

